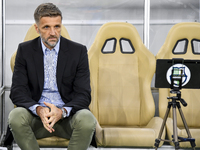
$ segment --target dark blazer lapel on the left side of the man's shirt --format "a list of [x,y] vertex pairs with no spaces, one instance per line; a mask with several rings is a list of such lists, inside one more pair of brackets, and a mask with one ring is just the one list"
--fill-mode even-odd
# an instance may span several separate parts
[[35,63],[35,70],[37,72],[37,78],[40,86],[40,90],[43,90],[44,86],[44,61],[43,61],[43,51],[41,47],[41,40],[38,38],[37,43],[34,47],[35,53],[33,54],[33,59]]

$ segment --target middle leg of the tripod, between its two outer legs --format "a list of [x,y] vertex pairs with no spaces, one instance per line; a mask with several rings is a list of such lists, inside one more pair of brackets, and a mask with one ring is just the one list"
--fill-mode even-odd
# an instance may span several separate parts
[[174,145],[175,149],[179,149],[179,142],[178,142],[178,131],[177,131],[177,115],[176,115],[176,103],[173,103],[173,138],[174,138]]

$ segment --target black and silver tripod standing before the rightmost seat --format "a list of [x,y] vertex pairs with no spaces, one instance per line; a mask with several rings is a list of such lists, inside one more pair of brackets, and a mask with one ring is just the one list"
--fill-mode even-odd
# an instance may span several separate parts
[[[155,149],[157,150],[160,141],[173,142],[174,145],[175,145],[175,150],[179,149],[179,142],[187,142],[188,141],[188,142],[190,142],[193,150],[195,150],[195,146],[196,146],[195,139],[192,138],[192,136],[190,134],[189,128],[187,126],[187,123],[186,123],[186,120],[185,120],[185,117],[183,115],[181,105],[180,105],[180,102],[181,102],[181,104],[186,107],[187,103],[185,102],[184,99],[181,98],[181,92],[179,90],[173,90],[172,89],[170,91],[170,93],[176,94],[176,96],[167,97],[167,99],[171,99],[172,101],[168,102],[167,110],[166,110],[166,113],[165,113],[165,116],[164,116],[164,119],[163,119],[163,123],[162,123],[161,129],[160,129],[158,138],[155,140],[155,144],[154,144]],[[162,133],[163,133],[163,130],[164,130],[164,127],[165,127],[165,124],[166,124],[166,121],[167,121],[167,117],[169,115],[169,111],[170,111],[171,107],[173,109],[173,135],[172,135],[173,140],[172,141],[161,139],[161,136],[162,136]],[[188,138],[178,137],[176,108],[178,108],[178,110],[179,110],[179,113],[180,113],[181,119],[183,121],[185,130],[187,132]]]

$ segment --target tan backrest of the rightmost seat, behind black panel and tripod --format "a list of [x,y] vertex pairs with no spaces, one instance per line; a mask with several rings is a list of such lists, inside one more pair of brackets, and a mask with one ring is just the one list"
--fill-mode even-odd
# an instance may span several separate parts
[[[185,22],[174,25],[165,40],[165,43],[156,55],[156,59],[200,59],[200,23]],[[187,124],[190,127],[200,127],[198,119],[200,115],[199,89],[182,89],[182,98],[188,103],[187,107],[182,107]],[[159,115],[164,117],[167,108],[167,97],[172,96],[170,89],[159,89]],[[172,117],[172,112],[170,113]],[[183,126],[178,115],[177,125]]]

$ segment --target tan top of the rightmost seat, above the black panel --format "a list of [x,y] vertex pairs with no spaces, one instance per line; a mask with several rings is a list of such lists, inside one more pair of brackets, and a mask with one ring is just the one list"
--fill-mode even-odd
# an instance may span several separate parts
[[[197,47],[200,43],[200,23],[182,22],[174,25],[165,43],[156,55],[157,59],[200,59]],[[195,49],[196,48],[196,49]],[[198,54],[198,55],[196,55]]]

